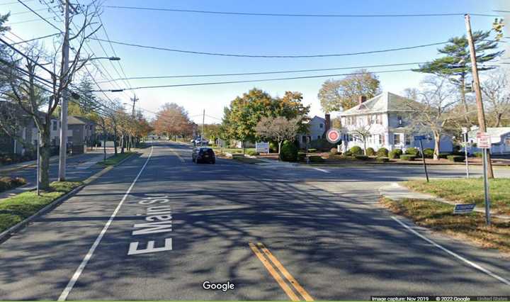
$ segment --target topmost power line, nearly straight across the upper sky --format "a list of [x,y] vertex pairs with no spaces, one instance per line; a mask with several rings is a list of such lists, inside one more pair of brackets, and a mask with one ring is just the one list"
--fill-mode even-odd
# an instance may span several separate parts
[[[108,9],[132,9],[142,11],[170,11],[179,13],[209,13],[217,15],[238,15],[238,16],[270,16],[270,17],[319,17],[319,18],[407,18],[407,17],[445,17],[464,16],[465,13],[397,13],[397,14],[317,14],[317,13],[249,13],[240,11],[202,11],[196,9],[165,9],[157,7],[140,6],[111,6],[104,5]],[[487,13],[470,13],[471,16],[498,17]]]

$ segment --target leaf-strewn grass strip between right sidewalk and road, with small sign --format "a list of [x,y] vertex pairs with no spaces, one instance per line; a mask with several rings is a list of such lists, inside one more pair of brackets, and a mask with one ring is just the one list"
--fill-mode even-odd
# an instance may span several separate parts
[[380,203],[393,213],[414,220],[416,225],[475,242],[481,247],[510,252],[510,223],[507,221],[492,218],[492,224],[487,226],[483,213],[455,215],[452,205],[439,201],[382,198]]

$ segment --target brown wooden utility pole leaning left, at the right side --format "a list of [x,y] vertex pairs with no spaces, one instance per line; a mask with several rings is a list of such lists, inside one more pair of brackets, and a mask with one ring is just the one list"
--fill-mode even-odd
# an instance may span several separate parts
[[[471,32],[471,21],[469,13],[464,15],[466,30],[467,30],[467,43],[470,46],[470,56],[471,56],[471,68],[472,68],[472,77],[475,88],[475,95],[477,101],[477,113],[478,113],[478,125],[480,126],[480,132],[487,132],[487,127],[485,125],[485,112],[482,103],[482,91],[480,89],[480,78],[478,77],[478,67],[476,62],[476,52],[475,52],[475,42],[472,38]],[[489,146],[490,147],[490,146]],[[490,157],[489,150],[485,150],[485,162],[487,162],[487,177],[494,178],[494,172],[492,171],[492,161]]]

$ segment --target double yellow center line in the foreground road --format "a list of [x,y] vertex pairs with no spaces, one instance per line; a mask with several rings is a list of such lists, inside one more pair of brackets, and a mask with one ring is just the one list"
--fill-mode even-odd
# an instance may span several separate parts
[[[266,267],[269,274],[273,276],[273,278],[278,282],[280,287],[285,291],[287,296],[292,301],[301,301],[300,297],[297,295],[299,294],[302,296],[302,298],[305,299],[305,301],[314,301],[314,299],[310,296],[310,294],[305,291],[305,289],[302,288],[302,286],[294,279],[294,277],[288,272],[285,267],[276,259],[276,257],[269,252],[269,250],[261,243],[257,242],[256,245],[254,243],[249,242],[249,247],[251,250],[255,253],[256,257],[259,258],[259,260],[262,262],[263,266]],[[278,274],[278,271],[280,274]],[[283,278],[282,278],[283,276]],[[285,280],[284,280],[285,279]],[[287,282],[290,284],[290,286],[287,284]],[[297,293],[293,291],[293,289]]]

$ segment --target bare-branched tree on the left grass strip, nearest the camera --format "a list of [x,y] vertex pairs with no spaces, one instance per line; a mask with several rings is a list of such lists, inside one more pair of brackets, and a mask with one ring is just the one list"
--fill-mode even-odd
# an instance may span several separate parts
[[[94,2],[92,4],[95,4]],[[11,56],[11,64],[6,64],[8,69],[8,89],[4,91],[6,99],[30,118],[40,133],[40,187],[50,188],[50,124],[52,116],[62,99],[64,91],[69,90],[74,74],[86,65],[89,57],[81,55],[85,41],[96,33],[99,27],[95,26],[94,19],[98,15],[96,10],[91,10],[91,4],[84,6],[82,11],[81,27],[69,36],[69,42],[74,45],[74,57],[69,61],[69,68],[64,69],[63,59],[60,55],[64,39],[61,43],[55,43],[53,52],[47,54],[37,44],[28,44],[23,52],[16,52],[12,48],[8,52]],[[50,57],[48,60],[47,57]],[[4,63],[5,64],[5,63]],[[46,81],[41,79],[47,78]],[[42,84],[41,84],[42,83]]]

